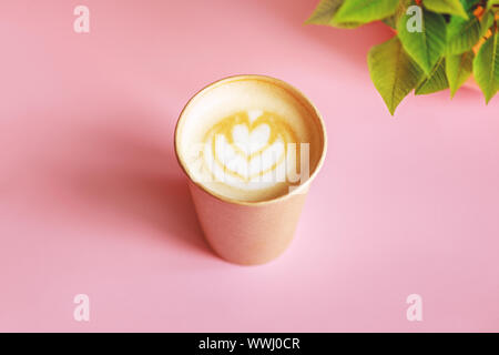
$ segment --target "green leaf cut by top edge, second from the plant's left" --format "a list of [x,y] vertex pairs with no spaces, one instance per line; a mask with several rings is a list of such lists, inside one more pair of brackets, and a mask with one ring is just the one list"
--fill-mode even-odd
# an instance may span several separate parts
[[367,23],[381,20],[397,10],[399,0],[345,0],[334,17],[337,23]]

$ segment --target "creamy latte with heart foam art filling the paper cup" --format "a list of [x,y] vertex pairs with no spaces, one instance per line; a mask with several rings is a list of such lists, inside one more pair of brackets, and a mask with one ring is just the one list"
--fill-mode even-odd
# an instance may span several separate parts
[[177,154],[222,199],[273,200],[303,184],[324,150],[320,122],[298,92],[265,77],[221,81],[184,109]]

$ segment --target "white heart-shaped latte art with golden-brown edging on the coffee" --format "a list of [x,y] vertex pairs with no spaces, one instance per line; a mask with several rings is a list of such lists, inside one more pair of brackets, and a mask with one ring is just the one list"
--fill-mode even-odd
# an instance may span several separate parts
[[215,181],[262,189],[286,180],[293,129],[269,112],[241,111],[216,123],[204,136],[204,165]]

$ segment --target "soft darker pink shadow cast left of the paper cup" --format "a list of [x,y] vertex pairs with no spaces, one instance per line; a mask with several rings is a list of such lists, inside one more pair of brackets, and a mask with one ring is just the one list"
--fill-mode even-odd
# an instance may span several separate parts
[[151,237],[169,239],[169,245],[214,256],[176,162],[173,132],[157,134],[128,118],[103,121],[108,123],[67,132],[71,160],[57,164],[52,173],[71,199],[92,211],[91,217],[145,226],[154,231]]

